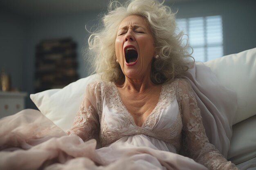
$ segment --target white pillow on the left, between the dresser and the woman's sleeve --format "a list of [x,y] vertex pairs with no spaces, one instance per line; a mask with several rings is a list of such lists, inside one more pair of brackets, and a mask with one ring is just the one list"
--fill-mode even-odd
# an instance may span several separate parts
[[31,94],[30,98],[43,115],[67,131],[72,126],[82,103],[85,87],[97,79],[99,79],[99,75],[90,75],[62,89],[51,89]]

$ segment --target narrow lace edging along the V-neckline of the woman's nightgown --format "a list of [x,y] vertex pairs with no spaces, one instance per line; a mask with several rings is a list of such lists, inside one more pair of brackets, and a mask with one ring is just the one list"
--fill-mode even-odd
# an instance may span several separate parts
[[153,113],[155,113],[155,110],[156,110],[156,108],[158,107],[160,100],[162,99],[162,93],[163,93],[164,84],[162,84],[162,86],[161,86],[161,91],[160,91],[160,94],[159,94],[159,97],[158,97],[157,104],[155,105],[155,107],[153,108],[153,110],[149,113],[149,115],[146,117],[145,121],[143,122],[143,124],[142,124],[141,126],[138,126],[138,125],[135,123],[134,118],[132,117],[132,115],[130,114],[130,112],[128,111],[128,109],[126,108],[126,106],[124,105],[124,102],[122,101],[121,96],[120,96],[120,94],[119,94],[117,85],[116,85],[114,82],[113,82],[113,85],[114,85],[115,91],[116,91],[116,93],[117,93],[117,98],[118,98],[118,100],[120,101],[120,105],[118,105],[117,107],[122,107],[122,108],[123,108],[122,110],[124,110],[124,112],[125,112],[126,115],[129,117],[129,119],[131,120],[131,123],[132,123],[134,126],[139,127],[139,128],[143,128],[144,126],[146,126],[146,124],[147,124],[147,122],[148,122],[148,119],[153,115]]

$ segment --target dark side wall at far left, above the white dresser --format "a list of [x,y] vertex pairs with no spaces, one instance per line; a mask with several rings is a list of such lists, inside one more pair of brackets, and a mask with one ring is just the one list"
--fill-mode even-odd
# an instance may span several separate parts
[[26,37],[25,20],[0,8],[0,71],[4,68],[11,75],[11,84],[22,91]]

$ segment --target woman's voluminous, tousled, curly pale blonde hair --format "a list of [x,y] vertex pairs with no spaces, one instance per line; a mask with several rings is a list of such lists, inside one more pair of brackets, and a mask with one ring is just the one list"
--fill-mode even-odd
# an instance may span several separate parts
[[[117,29],[124,18],[139,15],[149,25],[155,40],[155,51],[159,59],[153,59],[151,81],[155,84],[171,82],[189,68],[194,59],[188,53],[188,43],[182,45],[184,33],[175,33],[175,14],[157,0],[129,0],[124,5],[110,2],[108,14],[103,17],[103,29],[90,35],[87,57],[94,73],[106,81],[117,82],[124,77],[116,62],[115,39]],[[192,60],[189,60],[192,58]]]

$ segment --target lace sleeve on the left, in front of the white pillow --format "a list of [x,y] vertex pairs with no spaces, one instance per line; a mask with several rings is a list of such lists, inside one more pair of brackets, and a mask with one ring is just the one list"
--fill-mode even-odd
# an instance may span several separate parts
[[94,84],[88,85],[83,102],[74,119],[73,126],[67,130],[67,134],[76,134],[83,141],[99,136],[99,115],[97,113],[97,93]]

